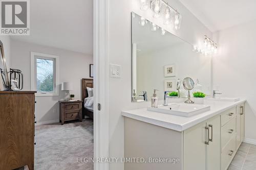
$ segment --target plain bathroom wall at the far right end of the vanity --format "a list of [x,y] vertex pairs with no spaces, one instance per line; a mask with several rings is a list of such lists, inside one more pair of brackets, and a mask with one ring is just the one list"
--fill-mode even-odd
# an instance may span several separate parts
[[213,82],[223,96],[247,99],[245,137],[256,142],[256,20],[214,34],[218,54],[213,57]]

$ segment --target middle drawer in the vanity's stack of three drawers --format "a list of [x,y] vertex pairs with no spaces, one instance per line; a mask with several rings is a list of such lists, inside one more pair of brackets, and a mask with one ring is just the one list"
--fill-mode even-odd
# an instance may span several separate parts
[[226,146],[228,141],[236,135],[236,117],[231,119],[226,125],[221,127],[221,147]]

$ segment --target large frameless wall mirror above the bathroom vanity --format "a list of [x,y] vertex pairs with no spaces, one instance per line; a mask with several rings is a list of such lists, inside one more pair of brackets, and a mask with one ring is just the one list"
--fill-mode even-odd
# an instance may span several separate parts
[[159,100],[164,99],[164,91],[179,89],[185,101],[187,91],[182,83],[178,88],[177,81],[186,77],[198,79],[200,91],[210,94],[211,57],[193,52],[193,45],[133,13],[132,101],[150,99],[154,89],[159,90]]

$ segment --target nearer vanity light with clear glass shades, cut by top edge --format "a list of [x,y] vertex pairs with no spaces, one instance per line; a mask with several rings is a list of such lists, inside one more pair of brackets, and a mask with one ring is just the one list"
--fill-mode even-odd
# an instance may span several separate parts
[[[180,29],[182,16],[176,9],[169,6],[168,3],[163,0],[139,1],[141,10],[151,9],[154,18],[162,16],[164,25],[172,24],[176,30]],[[174,14],[172,14],[173,12]]]

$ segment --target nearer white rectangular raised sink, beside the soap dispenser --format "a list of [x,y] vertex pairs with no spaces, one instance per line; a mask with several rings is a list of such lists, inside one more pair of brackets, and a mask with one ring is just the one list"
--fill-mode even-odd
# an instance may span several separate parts
[[147,107],[148,111],[154,111],[165,114],[172,114],[183,117],[194,116],[210,110],[210,106],[196,104],[171,104],[168,106],[159,106],[158,108]]

